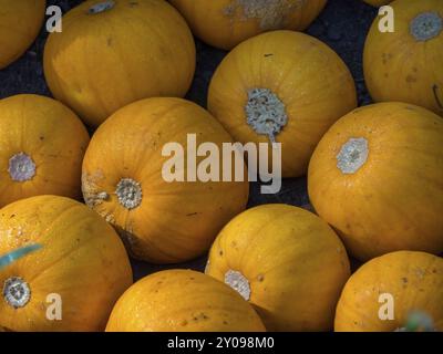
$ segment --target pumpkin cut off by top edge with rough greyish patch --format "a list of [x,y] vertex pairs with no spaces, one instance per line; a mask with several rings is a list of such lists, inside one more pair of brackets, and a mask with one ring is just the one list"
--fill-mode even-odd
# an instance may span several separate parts
[[230,50],[270,30],[305,30],[327,0],[171,0],[206,43]]

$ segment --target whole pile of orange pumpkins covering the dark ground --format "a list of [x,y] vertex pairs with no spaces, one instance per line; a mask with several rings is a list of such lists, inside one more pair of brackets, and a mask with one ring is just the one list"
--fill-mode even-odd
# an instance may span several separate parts
[[[297,32],[326,2],[90,0],[69,11],[44,50],[56,101],[0,101],[0,256],[42,246],[0,270],[0,327],[394,331],[421,311],[443,330],[443,1],[392,2],[393,33],[374,21],[364,74],[380,103],[360,108],[346,64]],[[34,40],[44,7],[0,1],[0,67]],[[210,113],[179,98],[192,33],[231,50]],[[91,142],[82,121],[97,127]],[[308,175],[317,215],[244,211],[247,181],[166,183],[162,146],[190,133],[219,147],[281,143],[284,177]],[[209,248],[206,274],[132,284],[127,253],[166,264]],[[348,253],[364,262],[353,274]],[[48,320],[48,294],[60,294],[61,321]]]

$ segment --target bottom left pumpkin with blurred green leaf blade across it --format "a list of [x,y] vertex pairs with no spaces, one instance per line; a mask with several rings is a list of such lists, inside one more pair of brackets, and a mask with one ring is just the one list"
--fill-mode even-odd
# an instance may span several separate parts
[[86,206],[38,196],[0,211],[0,254],[25,244],[39,251],[0,271],[0,326],[11,331],[103,331],[132,284],[116,232]]

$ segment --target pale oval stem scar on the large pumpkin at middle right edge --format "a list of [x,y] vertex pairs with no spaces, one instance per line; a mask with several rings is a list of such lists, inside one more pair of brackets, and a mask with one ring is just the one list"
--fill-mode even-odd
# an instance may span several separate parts
[[337,167],[346,175],[353,175],[365,164],[368,156],[368,140],[351,138],[337,155]]

